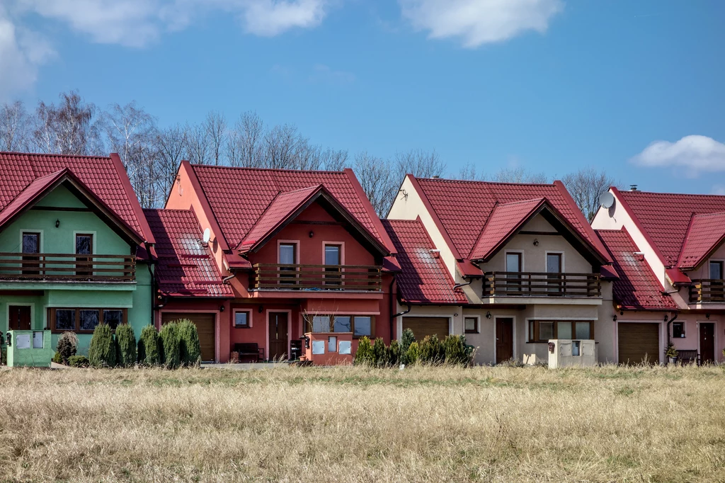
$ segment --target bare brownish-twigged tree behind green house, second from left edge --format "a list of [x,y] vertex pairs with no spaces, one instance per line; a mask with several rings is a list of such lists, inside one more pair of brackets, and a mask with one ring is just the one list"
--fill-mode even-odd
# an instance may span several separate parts
[[33,141],[41,152],[91,154],[99,149],[98,128],[92,123],[96,107],[83,102],[77,91],[60,94],[61,102],[38,103]]

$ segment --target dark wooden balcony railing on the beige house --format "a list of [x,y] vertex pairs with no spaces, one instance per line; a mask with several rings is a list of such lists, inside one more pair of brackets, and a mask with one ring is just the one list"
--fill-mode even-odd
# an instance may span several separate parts
[[486,272],[484,297],[601,297],[598,273]]

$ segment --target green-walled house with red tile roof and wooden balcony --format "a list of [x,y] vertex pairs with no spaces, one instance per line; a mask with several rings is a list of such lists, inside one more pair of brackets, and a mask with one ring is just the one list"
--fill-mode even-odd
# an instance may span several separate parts
[[117,154],[0,153],[0,330],[152,323],[154,239]]

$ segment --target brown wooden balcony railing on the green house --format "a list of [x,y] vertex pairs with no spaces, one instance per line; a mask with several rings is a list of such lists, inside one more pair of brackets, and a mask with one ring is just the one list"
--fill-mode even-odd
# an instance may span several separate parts
[[134,281],[134,255],[0,253],[0,280]]

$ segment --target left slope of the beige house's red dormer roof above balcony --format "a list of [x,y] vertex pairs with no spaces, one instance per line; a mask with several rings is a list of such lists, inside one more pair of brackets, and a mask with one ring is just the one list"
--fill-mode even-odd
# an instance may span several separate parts
[[494,249],[508,240],[544,203],[544,198],[537,198],[496,205],[468,258],[487,260]]

